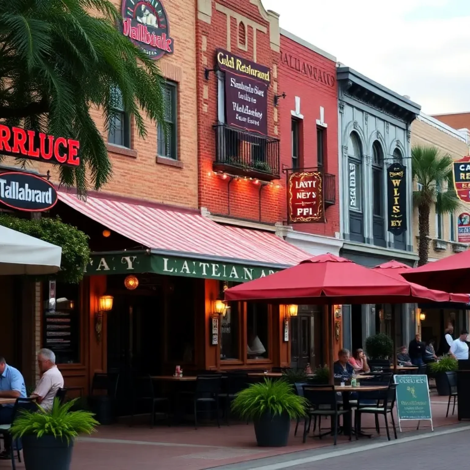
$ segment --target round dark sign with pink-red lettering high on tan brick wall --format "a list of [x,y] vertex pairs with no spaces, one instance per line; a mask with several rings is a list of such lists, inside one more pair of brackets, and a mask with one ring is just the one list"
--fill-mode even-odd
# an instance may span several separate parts
[[173,54],[168,17],[158,0],[122,0],[120,30],[151,59]]

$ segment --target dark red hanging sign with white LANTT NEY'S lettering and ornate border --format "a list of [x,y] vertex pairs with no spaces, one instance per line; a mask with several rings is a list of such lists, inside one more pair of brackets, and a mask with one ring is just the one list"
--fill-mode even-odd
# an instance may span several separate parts
[[290,222],[323,222],[321,172],[290,174],[288,191]]

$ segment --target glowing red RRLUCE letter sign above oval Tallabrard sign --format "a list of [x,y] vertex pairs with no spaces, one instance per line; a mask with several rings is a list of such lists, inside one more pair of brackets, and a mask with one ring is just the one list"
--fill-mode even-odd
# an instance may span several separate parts
[[80,142],[38,131],[0,124],[0,155],[41,162],[79,166]]

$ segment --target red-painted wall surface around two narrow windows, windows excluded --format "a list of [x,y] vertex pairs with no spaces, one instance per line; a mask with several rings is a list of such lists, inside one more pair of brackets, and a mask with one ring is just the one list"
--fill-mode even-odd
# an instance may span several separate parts
[[[307,64],[305,69],[304,63]],[[326,209],[327,222],[294,224],[294,229],[317,235],[334,236],[335,232],[339,232],[336,63],[281,35],[279,92],[283,91],[286,92],[287,97],[279,102],[282,165],[286,168],[292,167],[291,110],[295,110],[295,97],[298,96],[300,97],[300,114],[304,117],[300,125],[300,155],[303,157],[301,166],[304,168],[317,166],[316,120],[320,119],[322,106],[324,122],[328,124],[324,130],[326,132],[325,171],[336,176],[336,204]]]

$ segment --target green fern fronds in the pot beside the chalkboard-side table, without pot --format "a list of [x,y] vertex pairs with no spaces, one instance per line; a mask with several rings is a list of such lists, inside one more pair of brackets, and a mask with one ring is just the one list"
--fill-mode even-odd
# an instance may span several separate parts
[[238,392],[232,401],[232,410],[243,419],[256,419],[265,413],[290,418],[305,416],[307,400],[299,397],[291,384],[285,380],[271,380],[251,384]]

